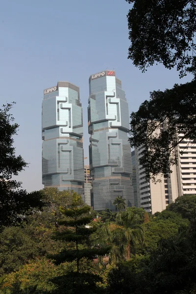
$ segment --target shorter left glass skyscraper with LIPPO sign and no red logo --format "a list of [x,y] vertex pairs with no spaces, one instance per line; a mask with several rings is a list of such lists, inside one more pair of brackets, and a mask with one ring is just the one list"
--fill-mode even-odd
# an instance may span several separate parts
[[44,187],[84,194],[83,118],[79,88],[70,82],[44,90],[42,179]]

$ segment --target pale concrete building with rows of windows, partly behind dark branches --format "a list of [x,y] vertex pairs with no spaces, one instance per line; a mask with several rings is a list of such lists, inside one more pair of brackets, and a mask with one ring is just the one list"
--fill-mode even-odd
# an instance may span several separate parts
[[[179,135],[182,137],[182,135]],[[164,179],[158,175],[161,182],[153,183],[146,181],[145,169],[139,164],[142,157],[143,147],[132,152],[133,170],[136,171],[137,189],[134,189],[137,197],[138,207],[143,207],[147,212],[155,212],[166,209],[178,196],[185,194],[196,194],[196,144],[184,140],[179,143],[178,151],[183,151],[179,155],[178,165],[171,167],[170,178]]]

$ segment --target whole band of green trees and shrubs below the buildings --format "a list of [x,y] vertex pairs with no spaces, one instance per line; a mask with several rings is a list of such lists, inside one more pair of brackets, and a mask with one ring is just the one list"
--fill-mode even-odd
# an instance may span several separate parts
[[0,294],[195,293],[196,196],[153,216],[128,207],[104,223],[76,193],[42,193],[42,212],[0,233]]

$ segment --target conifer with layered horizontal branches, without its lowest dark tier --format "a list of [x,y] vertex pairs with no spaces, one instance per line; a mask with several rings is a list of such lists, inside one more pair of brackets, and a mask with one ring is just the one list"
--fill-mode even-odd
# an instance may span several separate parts
[[64,261],[76,261],[77,271],[79,271],[79,260],[83,257],[93,259],[95,255],[104,255],[108,252],[108,248],[90,248],[90,235],[96,230],[94,227],[86,227],[92,221],[90,214],[91,208],[85,205],[81,196],[75,192],[72,193],[72,202],[68,208],[60,207],[60,211],[64,216],[63,220],[58,223],[64,226],[64,229],[57,231],[54,234],[54,239],[73,242],[73,249],[62,250],[58,255],[52,256],[57,264]]

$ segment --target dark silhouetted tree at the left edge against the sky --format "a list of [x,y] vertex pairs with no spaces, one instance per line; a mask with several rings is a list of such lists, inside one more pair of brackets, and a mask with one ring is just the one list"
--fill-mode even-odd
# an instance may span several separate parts
[[21,183],[13,180],[27,166],[21,155],[15,155],[13,136],[17,135],[19,125],[9,113],[12,104],[0,109],[0,227],[18,225],[33,209],[41,209],[45,204],[42,193],[27,192]]

